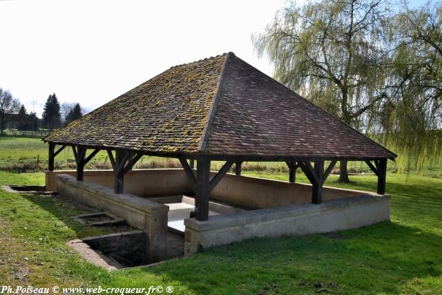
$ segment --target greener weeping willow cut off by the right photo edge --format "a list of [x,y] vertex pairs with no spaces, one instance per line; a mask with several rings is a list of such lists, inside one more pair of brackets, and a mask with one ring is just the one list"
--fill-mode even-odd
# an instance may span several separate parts
[[388,93],[372,134],[399,154],[399,170],[442,164],[442,6],[406,4],[390,19]]

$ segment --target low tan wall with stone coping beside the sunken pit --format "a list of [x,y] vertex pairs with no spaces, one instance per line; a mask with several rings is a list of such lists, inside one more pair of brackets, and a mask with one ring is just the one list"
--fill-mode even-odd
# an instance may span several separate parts
[[115,194],[113,189],[102,184],[77,181],[71,175],[55,175],[54,180],[56,191],[64,196],[90,207],[110,211],[126,220],[128,225],[142,229],[148,241],[146,252],[151,263],[164,260],[168,206],[126,193]]

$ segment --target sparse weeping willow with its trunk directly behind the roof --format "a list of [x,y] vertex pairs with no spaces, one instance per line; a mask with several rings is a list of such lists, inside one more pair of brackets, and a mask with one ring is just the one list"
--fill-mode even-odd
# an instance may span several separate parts
[[[291,3],[252,39],[258,55],[274,64],[278,81],[366,131],[373,122],[369,110],[387,99],[386,11],[381,1]],[[346,161],[339,181],[349,182]]]

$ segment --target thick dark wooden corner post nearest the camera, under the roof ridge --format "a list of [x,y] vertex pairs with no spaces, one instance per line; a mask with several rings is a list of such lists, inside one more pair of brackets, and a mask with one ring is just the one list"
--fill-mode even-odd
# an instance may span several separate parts
[[195,191],[195,218],[204,221],[209,219],[210,198],[210,160],[201,156],[197,160]]

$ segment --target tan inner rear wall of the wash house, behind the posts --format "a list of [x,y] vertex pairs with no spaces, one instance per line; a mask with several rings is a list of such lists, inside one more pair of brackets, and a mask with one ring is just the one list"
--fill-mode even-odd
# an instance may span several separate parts
[[[75,175],[75,171],[46,171],[46,189],[55,191],[55,175]],[[212,172],[212,177],[216,174]],[[112,170],[84,171],[84,180],[113,188]],[[193,194],[182,169],[140,169],[128,171],[124,192],[140,197]],[[323,200],[362,196],[365,191],[324,187]],[[227,174],[211,193],[211,198],[253,209],[311,202],[311,185]]]

